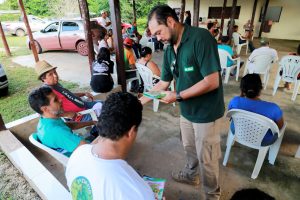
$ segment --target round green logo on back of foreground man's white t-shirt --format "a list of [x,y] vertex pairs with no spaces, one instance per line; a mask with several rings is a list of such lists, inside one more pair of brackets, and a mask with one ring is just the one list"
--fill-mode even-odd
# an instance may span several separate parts
[[92,187],[87,178],[79,176],[73,180],[71,185],[71,194],[73,200],[92,200]]

